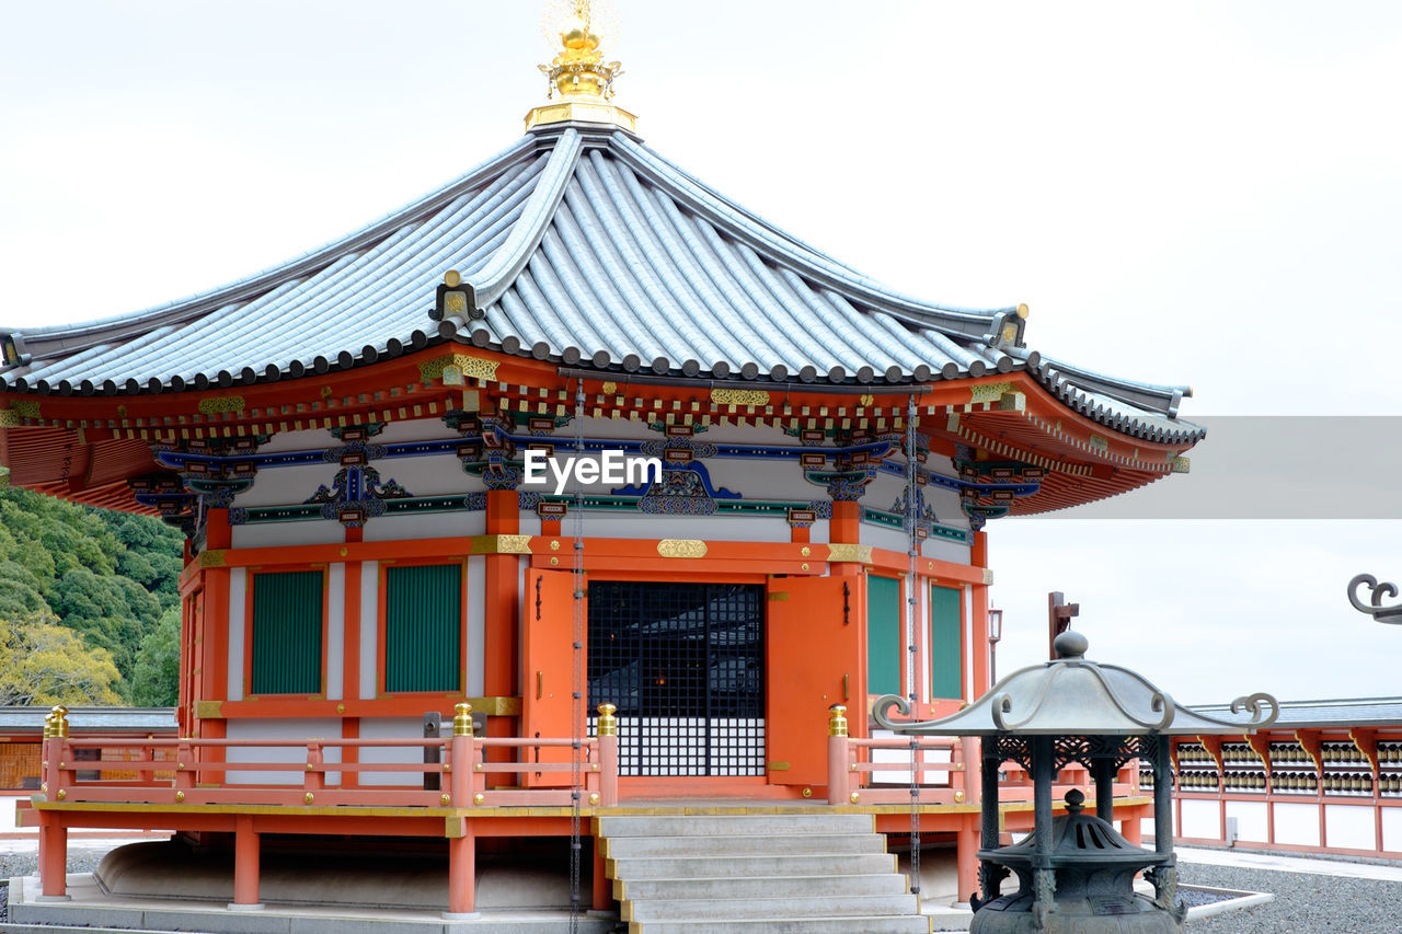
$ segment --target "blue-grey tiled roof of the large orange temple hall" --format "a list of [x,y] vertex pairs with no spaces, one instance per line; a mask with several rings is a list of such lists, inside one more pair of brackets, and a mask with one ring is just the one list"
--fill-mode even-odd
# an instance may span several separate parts
[[[447,269],[474,285],[485,318],[429,317]],[[1028,369],[1117,431],[1202,435],[1176,419],[1186,388],[1043,359],[1022,338],[1016,307],[892,292],[627,133],[557,125],[343,240],[222,289],[87,324],[0,328],[20,360],[0,366],[0,380],[39,393],[203,388],[457,339],[571,366],[732,380],[857,386]]]

